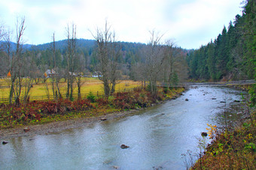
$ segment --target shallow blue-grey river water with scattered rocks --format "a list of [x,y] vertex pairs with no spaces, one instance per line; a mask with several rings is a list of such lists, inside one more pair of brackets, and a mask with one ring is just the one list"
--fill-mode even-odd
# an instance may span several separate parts
[[10,139],[0,145],[0,169],[186,169],[181,154],[199,151],[201,132],[207,124],[220,125],[218,113],[241,100],[240,94],[195,88],[126,118]]

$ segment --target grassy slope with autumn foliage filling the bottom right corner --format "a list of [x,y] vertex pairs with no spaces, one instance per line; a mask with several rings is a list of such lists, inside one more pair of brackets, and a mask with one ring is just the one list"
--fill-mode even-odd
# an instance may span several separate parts
[[209,128],[212,143],[191,169],[256,169],[256,112],[236,127]]

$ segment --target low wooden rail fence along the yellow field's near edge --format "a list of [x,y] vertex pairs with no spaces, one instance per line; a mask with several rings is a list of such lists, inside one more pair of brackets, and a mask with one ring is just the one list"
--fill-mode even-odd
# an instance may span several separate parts
[[[134,88],[116,89],[115,93],[133,91],[133,89]],[[105,96],[104,91],[92,91],[92,93],[96,97],[104,97]],[[86,98],[88,95],[89,95],[89,93],[81,94],[81,98],[82,99]],[[66,96],[62,96],[62,97],[66,98]],[[74,98],[74,100],[77,100],[78,99],[78,94],[74,94],[73,98]],[[20,97],[20,101],[23,101],[23,100],[24,100],[24,98]],[[35,97],[29,97],[29,100],[30,101],[33,101],[33,100],[47,101],[47,100],[55,100],[55,98],[54,98],[53,95],[50,95],[49,97],[47,97],[47,96],[35,96]],[[13,102],[14,102],[14,100],[13,100]],[[9,103],[9,98],[1,98],[0,103]]]

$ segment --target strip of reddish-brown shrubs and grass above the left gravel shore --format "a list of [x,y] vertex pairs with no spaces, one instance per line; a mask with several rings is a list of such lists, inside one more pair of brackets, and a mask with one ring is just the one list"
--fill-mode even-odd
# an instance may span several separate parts
[[113,112],[146,108],[154,103],[175,97],[182,91],[184,88],[168,91],[160,88],[156,95],[152,95],[145,88],[135,88],[133,91],[116,93],[108,99],[91,94],[85,99],[75,101],[33,101],[20,103],[19,106],[2,104],[0,106],[0,129],[97,117]]

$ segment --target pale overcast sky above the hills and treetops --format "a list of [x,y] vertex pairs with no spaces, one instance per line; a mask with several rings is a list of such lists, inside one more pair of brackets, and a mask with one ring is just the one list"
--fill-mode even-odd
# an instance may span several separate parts
[[[177,46],[197,49],[215,39],[224,25],[241,14],[242,0],[1,0],[0,22],[15,28],[26,17],[26,43],[66,39],[66,25],[77,25],[77,37],[93,39],[90,31],[105,19],[120,41],[148,43],[149,32],[164,34]],[[88,31],[90,30],[90,31]],[[15,31],[14,31],[15,32]]]

